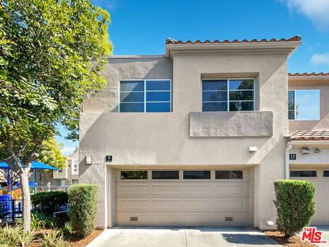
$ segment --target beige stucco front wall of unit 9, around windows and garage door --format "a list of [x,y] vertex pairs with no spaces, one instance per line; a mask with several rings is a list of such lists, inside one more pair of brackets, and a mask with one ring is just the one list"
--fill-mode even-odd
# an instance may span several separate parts
[[[189,114],[202,111],[201,78],[239,78],[247,73],[256,79],[256,109],[273,112],[273,136],[190,137]],[[265,220],[276,217],[273,181],[284,178],[286,55],[175,55],[173,64],[167,58],[113,59],[104,75],[108,86],[85,100],[80,116],[80,181],[99,185],[99,227],[110,225],[104,220],[109,213],[105,205],[110,204],[104,161],[112,155],[111,165],[121,167],[254,165],[254,226],[271,228]],[[173,79],[173,112],[117,113],[118,80],[145,78]],[[258,151],[249,153],[249,146]],[[93,156],[93,165],[84,165],[86,155]]]

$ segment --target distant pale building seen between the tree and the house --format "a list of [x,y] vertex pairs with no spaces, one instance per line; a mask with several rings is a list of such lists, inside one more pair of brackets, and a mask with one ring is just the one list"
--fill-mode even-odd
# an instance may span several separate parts
[[66,166],[61,171],[53,171],[55,185],[75,185],[79,183],[79,152],[66,156]]

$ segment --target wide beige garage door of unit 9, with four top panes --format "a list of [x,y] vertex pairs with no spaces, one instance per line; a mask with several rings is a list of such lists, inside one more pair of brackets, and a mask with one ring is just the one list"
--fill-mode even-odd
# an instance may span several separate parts
[[117,170],[117,226],[249,226],[249,170]]

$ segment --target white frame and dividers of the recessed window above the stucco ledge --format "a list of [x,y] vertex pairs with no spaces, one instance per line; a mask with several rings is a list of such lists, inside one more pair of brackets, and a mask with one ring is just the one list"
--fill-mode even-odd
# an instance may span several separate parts
[[[209,91],[214,91],[214,90],[206,90],[204,91],[202,89],[202,84],[204,81],[212,81],[212,80],[226,80],[226,90],[216,90],[216,92],[223,92],[223,91],[226,91],[226,107],[227,107],[227,110],[221,110],[221,112],[234,112],[234,111],[255,111],[256,109],[256,80],[255,78],[204,78],[204,79],[201,79],[201,109],[202,109],[202,112],[203,113],[211,113],[212,111],[204,111],[203,110],[203,104],[204,103],[211,103],[211,102],[204,102],[204,99],[203,99],[203,96],[202,96],[202,93],[203,92],[209,92]],[[252,80],[253,81],[253,88],[254,89],[230,89],[230,80]],[[252,98],[253,100],[230,100],[230,91],[252,91]],[[216,102],[219,102],[219,103],[223,103],[225,101],[216,101]],[[252,102],[252,106],[253,106],[253,110],[230,110],[230,102]],[[213,110],[213,112],[220,112],[220,111],[215,111]]]

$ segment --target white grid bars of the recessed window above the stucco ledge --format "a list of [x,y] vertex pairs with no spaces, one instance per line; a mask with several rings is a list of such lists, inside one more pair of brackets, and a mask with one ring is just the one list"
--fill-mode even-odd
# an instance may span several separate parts
[[[230,111],[230,102],[252,102],[252,110],[255,110],[255,79],[254,78],[212,78],[212,79],[203,79],[202,82],[213,81],[213,80],[226,80],[226,90],[203,90],[203,92],[226,92],[226,99],[227,100],[219,100],[219,101],[204,101],[202,98],[203,103],[226,103],[227,110]],[[230,81],[231,80],[252,80],[253,89],[230,89]],[[230,92],[232,91],[252,91],[252,98],[253,100],[230,100]]]

